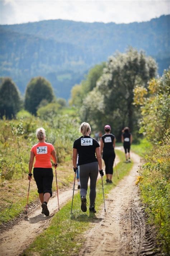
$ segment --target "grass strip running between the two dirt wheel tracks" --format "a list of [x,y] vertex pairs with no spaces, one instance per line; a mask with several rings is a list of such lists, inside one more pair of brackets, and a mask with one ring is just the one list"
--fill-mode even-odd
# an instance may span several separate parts
[[[124,153],[116,151],[120,158],[117,165],[119,180],[121,180],[131,170],[133,163],[124,163]],[[72,174],[73,176],[73,174]],[[113,184],[105,183],[104,177],[104,192],[107,198],[108,193],[119,182],[117,176],[113,176]],[[89,198],[89,194],[87,195]],[[89,201],[89,200],[88,200]],[[97,183],[96,210],[99,212],[103,207],[103,194],[101,179]],[[73,215],[70,217],[71,201],[69,201],[60,212],[57,212],[51,221],[49,228],[39,235],[23,255],[75,255],[82,246],[83,239],[81,234],[89,228],[90,223],[100,221],[100,218],[94,214],[90,214],[89,210],[83,213],[80,209],[80,195],[74,196]],[[103,209],[104,210],[104,209]],[[107,211],[107,209],[106,209]],[[37,255],[37,254],[36,254]]]

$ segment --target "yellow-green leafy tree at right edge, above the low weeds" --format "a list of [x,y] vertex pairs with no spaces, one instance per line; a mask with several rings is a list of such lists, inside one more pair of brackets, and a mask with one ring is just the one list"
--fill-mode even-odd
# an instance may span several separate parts
[[165,132],[170,125],[170,71],[162,77],[152,79],[145,89],[145,100],[141,98],[143,87],[136,87],[135,103],[141,105],[141,129],[151,142],[164,140]]

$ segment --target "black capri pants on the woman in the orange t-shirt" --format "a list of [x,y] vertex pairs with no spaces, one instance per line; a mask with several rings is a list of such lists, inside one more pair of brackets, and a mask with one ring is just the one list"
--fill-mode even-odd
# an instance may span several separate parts
[[50,193],[52,197],[52,168],[34,168],[33,176],[37,184],[38,193]]

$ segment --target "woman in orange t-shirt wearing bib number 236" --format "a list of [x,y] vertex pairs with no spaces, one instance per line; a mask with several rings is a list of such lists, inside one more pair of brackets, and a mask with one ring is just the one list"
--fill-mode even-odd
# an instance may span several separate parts
[[36,157],[36,162],[34,163],[33,169],[33,176],[38,188],[39,199],[42,206],[42,214],[49,216],[47,203],[49,201],[49,198],[52,196],[53,181],[51,157],[53,159],[54,166],[57,167],[57,156],[53,145],[51,143],[45,142],[46,133],[42,127],[36,130],[36,136],[38,139],[38,143],[33,145],[30,151],[28,180],[32,178],[31,171],[34,157]]

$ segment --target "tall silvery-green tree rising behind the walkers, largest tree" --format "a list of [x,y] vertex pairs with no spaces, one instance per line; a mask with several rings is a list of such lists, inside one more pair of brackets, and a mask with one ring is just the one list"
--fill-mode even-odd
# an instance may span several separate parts
[[[103,111],[107,123],[114,127],[116,135],[121,135],[124,126],[131,127],[131,131],[136,129],[138,112],[133,105],[133,89],[138,84],[146,87],[147,81],[156,75],[156,70],[154,59],[133,48],[109,58],[103,74],[97,81],[96,90],[104,97]],[[93,113],[93,106],[90,108]],[[95,114],[93,120],[96,120]]]

